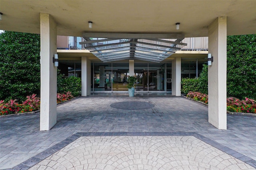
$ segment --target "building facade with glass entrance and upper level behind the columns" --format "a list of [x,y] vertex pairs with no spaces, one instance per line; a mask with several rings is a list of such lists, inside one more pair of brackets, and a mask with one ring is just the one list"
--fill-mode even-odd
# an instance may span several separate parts
[[[92,39],[98,40],[98,39]],[[65,50],[77,50],[79,53],[81,50],[90,48],[87,44],[79,44],[86,41],[83,37],[72,36],[58,36],[57,37],[57,49],[61,51]],[[124,40],[115,40],[112,43],[122,43]],[[174,41],[170,39],[170,41]],[[147,43],[152,43],[150,40]],[[193,37],[184,38],[183,45],[180,50],[170,55],[171,59],[165,59],[160,63],[154,63],[150,61],[135,60],[129,62],[129,60],[102,62],[98,60],[90,61],[90,94],[115,94],[128,91],[127,79],[131,72],[137,77],[137,84],[135,85],[136,94],[171,94],[172,93],[172,60],[176,56],[181,58],[180,77],[181,78],[198,78],[202,71],[203,64],[207,64],[208,53],[208,37]],[[103,45],[104,41],[98,42],[94,45]],[[87,45],[87,46],[86,46]],[[113,47],[122,46],[122,44],[116,44]],[[104,46],[107,49],[107,46]],[[65,76],[76,76],[82,78],[81,59],[74,57],[72,60],[72,54],[70,59],[62,59],[62,53],[60,55],[60,63],[58,69]],[[96,59],[96,57],[95,57]],[[130,68],[133,70],[130,71]],[[179,73],[179,71],[177,72]],[[123,93],[127,95],[126,93]]]

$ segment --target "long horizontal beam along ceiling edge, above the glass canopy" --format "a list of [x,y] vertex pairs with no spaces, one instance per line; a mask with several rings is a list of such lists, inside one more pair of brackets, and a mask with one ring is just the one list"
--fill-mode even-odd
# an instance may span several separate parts
[[90,38],[118,38],[118,39],[178,39],[184,34],[153,34],[153,33],[83,33],[83,37]]

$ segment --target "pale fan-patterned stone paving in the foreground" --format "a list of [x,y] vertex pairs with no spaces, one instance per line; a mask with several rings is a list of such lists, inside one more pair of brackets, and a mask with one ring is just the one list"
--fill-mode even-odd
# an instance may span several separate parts
[[193,136],[80,137],[30,170],[254,170]]

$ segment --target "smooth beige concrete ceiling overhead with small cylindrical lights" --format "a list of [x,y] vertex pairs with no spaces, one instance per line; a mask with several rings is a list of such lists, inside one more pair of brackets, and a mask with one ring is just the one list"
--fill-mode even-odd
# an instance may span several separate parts
[[[0,29],[40,33],[40,13],[53,16],[57,34],[175,33],[208,36],[227,16],[228,35],[256,33],[256,0],[0,0]],[[92,21],[92,29],[88,28]],[[180,30],[175,23],[180,22]]]

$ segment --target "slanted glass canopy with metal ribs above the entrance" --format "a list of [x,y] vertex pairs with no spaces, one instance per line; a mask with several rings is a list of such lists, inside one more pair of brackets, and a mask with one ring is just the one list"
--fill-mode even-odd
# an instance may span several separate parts
[[103,62],[136,59],[159,63],[180,50],[182,39],[86,38],[80,44]]

